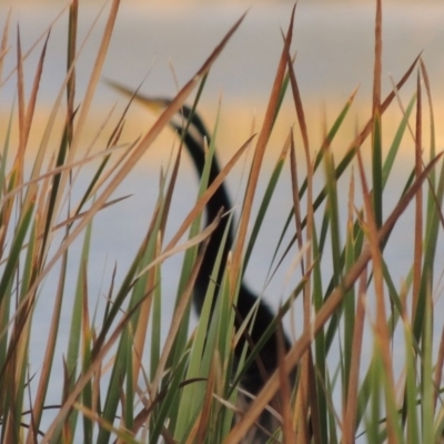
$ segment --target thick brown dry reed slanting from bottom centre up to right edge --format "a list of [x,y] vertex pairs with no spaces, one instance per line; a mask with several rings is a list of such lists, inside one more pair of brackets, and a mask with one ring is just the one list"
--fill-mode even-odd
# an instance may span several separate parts
[[[377,232],[379,244],[383,242],[390,234],[401,214],[405,211],[408,203],[415,196],[417,189],[422,186],[423,182],[426,180],[430,172],[435,168],[437,161],[442,158],[442,155],[443,155],[442,153],[438,154],[426,165],[420,178],[417,178],[413,182],[411,188],[402,196],[395,209],[392,211],[385,223]],[[304,331],[301,337],[287,353],[285,359],[287,372],[291,372],[295,367],[295,365],[297,365],[303,353],[311,345],[313,336],[315,336],[319,333],[319,331],[325,325],[326,321],[329,321],[329,319],[341,305],[344,294],[356,282],[356,280],[360,278],[360,275],[362,274],[363,270],[371,261],[371,259],[372,259],[371,249],[369,245],[366,245],[363,249],[356,262],[354,263],[354,265],[349,270],[349,272],[343,278],[341,284],[334,289],[334,291],[326,299],[322,309],[317,312],[312,325],[310,326],[310,331]],[[275,395],[278,390],[279,390],[279,375],[275,372],[266,382],[262,392],[251,404],[243,421],[241,423],[238,423],[230,432],[230,434],[226,436],[224,444],[235,444],[241,442],[244,434],[254,424],[254,421],[259,417],[265,405]]]

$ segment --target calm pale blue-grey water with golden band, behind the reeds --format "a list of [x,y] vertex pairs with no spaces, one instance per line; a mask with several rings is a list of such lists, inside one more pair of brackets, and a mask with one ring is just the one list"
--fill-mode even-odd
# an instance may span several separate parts
[[[232,3],[204,3],[188,4],[168,2],[152,6],[145,2],[122,2],[114,37],[109,51],[109,57],[103,71],[103,78],[117,80],[131,88],[137,88],[148,74],[142,90],[151,94],[172,95],[176,91],[175,81],[181,85],[189,80],[208,54],[218,44],[228,29],[246,10],[246,4]],[[266,107],[273,77],[275,73],[280,51],[282,48],[281,29],[286,30],[292,6],[283,2],[279,4],[254,4],[245,18],[244,23],[233,37],[212,69],[205,85],[201,112],[204,114],[209,127],[214,124],[218,102],[222,94],[221,124],[218,140],[219,153],[223,161],[229,159],[235,148],[239,148],[250,134],[251,121],[256,115],[260,125]],[[56,2],[21,4],[13,8],[13,24],[20,23],[20,32],[26,50],[43,33],[46,27],[57,16],[60,4]],[[80,40],[91,26],[99,7],[97,4],[81,6]],[[0,20],[6,17],[8,8],[0,4]],[[99,24],[91,34],[78,65],[78,98],[82,97],[88,84],[101,24],[104,14],[99,19]],[[373,75],[373,21],[374,7],[371,3],[353,2],[309,2],[300,1],[296,10],[293,51],[296,56],[296,74],[299,77],[301,93],[309,111],[310,133],[313,150],[319,148],[317,142],[322,134],[323,108],[327,122],[331,123],[342,104],[356,85],[360,92],[356,107],[351,112],[352,118],[341,138],[342,142],[350,141],[355,125],[361,127],[369,117],[372,75]],[[443,117],[444,104],[444,6],[441,2],[422,3],[390,3],[384,7],[384,59],[383,59],[383,92],[389,92],[391,82],[389,74],[395,80],[405,72],[414,58],[423,51],[423,58],[428,70],[433,97],[436,104],[437,118]],[[39,104],[48,109],[58,93],[64,75],[64,29],[67,14],[53,27],[48,49],[48,61],[40,91]],[[14,29],[14,27],[12,27]],[[14,34],[14,31],[12,32]],[[14,41],[14,37],[11,38]],[[12,44],[12,49],[14,43]],[[13,53],[13,52],[12,52]],[[34,73],[36,54],[31,54],[26,64],[27,91],[31,88]],[[14,65],[14,57],[9,57],[4,73]],[[172,68],[174,75],[172,74]],[[175,77],[175,79],[174,79]],[[10,110],[14,97],[16,80],[12,78],[0,90],[1,112]],[[415,79],[411,81],[402,98],[406,103],[415,91]],[[105,110],[117,103],[123,110],[124,100],[110,90],[104,83],[98,89],[97,110]],[[282,148],[286,132],[295,121],[291,111],[291,100],[285,104],[289,112],[280,121],[280,131],[274,134],[270,144],[270,161],[265,162],[263,178],[258,189],[258,196],[262,196],[269,180],[271,168]],[[98,114],[102,119],[103,114]],[[133,123],[130,124],[133,134],[145,130],[150,117],[142,109],[134,107],[130,114]],[[390,119],[396,124],[401,112],[394,108]],[[152,117],[151,117],[152,119]],[[135,122],[135,123],[134,123]],[[92,125],[97,124],[92,122]],[[393,128],[385,128],[386,134],[393,133]],[[127,133],[127,140],[133,137]],[[427,139],[427,135],[425,135]],[[443,130],[437,129],[437,141],[442,148]],[[343,147],[337,144],[337,150]],[[386,138],[390,141],[390,137]],[[393,192],[387,195],[386,211],[393,206],[403,188],[410,169],[412,168],[413,143],[406,138],[405,152],[402,153],[405,162],[397,165],[394,179],[390,183]],[[167,134],[165,145],[158,144],[153,154],[147,155],[143,162],[131,173],[128,180],[115,193],[115,196],[131,194],[131,198],[121,202],[115,208],[104,210],[94,222],[93,244],[90,262],[90,295],[102,301],[108,291],[109,280],[114,263],[118,263],[118,280],[120,280],[139,246],[147,230],[147,224],[153,211],[158,195],[160,168],[165,167],[168,155],[173,143],[173,135]],[[425,142],[426,147],[426,142]],[[246,168],[251,160],[248,157]],[[408,168],[405,168],[408,164]],[[242,162],[230,175],[228,181],[232,199],[239,205],[242,202],[246,180],[246,171]],[[286,169],[287,170],[287,169]],[[265,299],[273,306],[278,306],[284,299],[292,284],[297,282],[294,276],[284,285],[285,274],[291,260],[296,255],[293,251],[289,261],[283,264],[274,279],[265,287],[265,279],[270,270],[274,248],[281,230],[292,205],[290,174],[285,170],[284,178],[276,190],[269,216],[265,220],[262,235],[256,244],[253,258],[246,272],[246,281],[258,291],[263,292]],[[84,178],[79,178],[79,188],[74,188],[73,195],[79,196],[82,181],[87,180],[92,170],[84,171]],[[176,193],[172,203],[168,240],[178,229],[184,215],[194,202],[196,179],[191,169],[190,161],[184,158],[183,168],[179,176]],[[321,175],[322,176],[322,175]],[[349,175],[341,182],[344,200],[344,214],[346,214],[346,195]],[[360,193],[356,186],[356,193]],[[260,199],[258,199],[259,202]],[[360,200],[359,200],[360,201]],[[258,204],[256,202],[256,204]],[[239,212],[238,212],[239,214]],[[386,250],[386,260],[391,264],[395,284],[406,278],[412,258],[412,218],[411,212],[400,221],[400,229],[394,233]],[[75,285],[80,242],[74,245],[71,259],[72,274],[70,282]],[[443,250],[442,250],[443,251]],[[329,252],[324,252],[329,254]],[[438,253],[443,260],[443,254]],[[165,295],[165,311],[172,305],[175,297],[176,280],[180,272],[181,258],[167,261],[163,270],[163,294]],[[438,268],[442,272],[442,266]],[[50,289],[54,287],[54,278],[50,276],[39,301],[41,323],[36,325],[38,335],[33,337],[32,372],[41,365],[41,350],[46,344],[48,316],[51,312],[53,295]],[[73,290],[72,290],[73,291]],[[62,333],[68,332],[69,303],[64,306]],[[168,330],[168,319],[164,323]],[[436,325],[441,333],[442,324]],[[40,342],[39,342],[40,341]],[[60,341],[60,353],[64,353],[65,344],[63,334]],[[31,373],[32,373],[31,372]],[[60,374],[60,381],[62,375]],[[56,379],[57,380],[57,379]],[[56,381],[54,380],[54,381]],[[56,384],[54,384],[56,385]],[[54,402],[59,401],[60,387],[54,387]]]

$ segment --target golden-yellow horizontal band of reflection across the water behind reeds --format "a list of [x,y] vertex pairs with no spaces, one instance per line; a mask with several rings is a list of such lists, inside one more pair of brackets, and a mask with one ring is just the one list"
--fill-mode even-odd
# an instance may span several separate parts
[[[340,114],[342,108],[345,104],[343,102],[311,102],[309,107],[304,108],[305,120],[309,131],[309,140],[311,152],[316,153],[324,141],[324,137],[330,131],[335,119]],[[94,108],[91,111],[91,117],[87,120],[84,131],[82,132],[80,153],[85,152],[98,152],[104,150],[112,130],[120,119],[120,113],[125,107],[124,102],[118,103],[113,112],[110,114],[108,108]],[[406,103],[404,104],[406,107]],[[430,115],[427,104],[423,105],[423,150],[426,159],[430,150]],[[199,112],[202,115],[206,128],[210,133],[213,132],[216,120],[218,120],[218,104],[203,103],[199,108]],[[441,122],[444,119],[444,107],[438,103],[435,104],[435,122]],[[216,150],[223,162],[239,149],[250,138],[251,134],[258,134],[261,130],[261,125],[265,114],[265,105],[261,109],[250,108],[248,100],[241,103],[225,102],[222,103],[219,110],[219,125],[216,133]],[[34,155],[39,149],[43,133],[47,129],[49,121],[50,110],[39,109],[33,118],[27,153],[29,157]],[[402,120],[402,111],[396,103],[387,109],[382,118],[383,129],[383,147],[386,152],[395,137],[398,125]],[[342,123],[336,137],[331,144],[331,148],[337,158],[342,158],[344,153],[351,148],[351,143],[355,139],[356,134],[364,128],[366,122],[371,118],[371,104],[353,104],[349,111],[347,117]],[[4,134],[10,119],[9,110],[0,110],[0,131],[3,134],[3,140],[0,143],[4,143]],[[135,141],[139,137],[143,135],[151,125],[155,122],[157,115],[147,111],[144,108],[134,104],[127,118],[124,130],[122,132],[119,143],[125,145]],[[64,112],[58,113],[54,128],[51,131],[49,152],[56,153],[59,149],[60,140],[63,131]],[[282,105],[280,114],[276,119],[268,150],[266,157],[269,160],[278,159],[282,151],[285,140],[293,131],[296,149],[302,150],[301,131],[297,123],[297,117],[294,111],[294,105],[290,102],[285,102]],[[411,159],[414,154],[414,134],[415,133],[415,112],[412,112],[410,119],[410,127],[405,131],[403,142],[401,145],[400,154],[402,157]],[[252,148],[254,148],[255,141],[253,140]],[[440,151],[444,145],[444,129],[442,125],[435,125],[435,140],[436,151]],[[18,121],[13,118],[11,137],[10,137],[10,157],[13,155],[17,150],[19,142],[18,134]],[[171,154],[171,150],[179,145],[179,140],[174,135],[173,131],[165,128],[164,131],[157,139],[154,144],[150,147],[147,154],[143,158],[143,162],[152,165],[159,165],[159,161],[168,159]],[[370,138],[363,145],[364,157],[370,153]],[[155,162],[154,162],[155,161]],[[153,163],[154,162],[154,163]]]

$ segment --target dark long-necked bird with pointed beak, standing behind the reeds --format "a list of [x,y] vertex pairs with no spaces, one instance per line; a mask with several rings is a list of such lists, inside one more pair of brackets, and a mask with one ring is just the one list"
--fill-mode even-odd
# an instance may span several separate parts
[[[129,90],[127,90],[124,87],[118,85],[113,82],[112,85],[124,93],[129,93]],[[140,94],[137,94],[135,99],[152,109],[163,108],[170,103],[169,99],[142,97]],[[181,121],[171,121],[170,125],[176,131],[179,137],[182,138],[183,143],[191,155],[198,175],[199,178],[201,178],[205,164],[204,140],[206,139],[206,142],[210,145],[210,133],[206,130],[200,115],[196,112],[193,112],[190,107],[183,105],[179,113],[182,118],[180,119]],[[208,183],[209,186],[216,179],[221,169],[219,167],[219,161],[216,155],[214,154],[210,168]],[[229,193],[224,183],[219,186],[219,189],[214,192],[205,206],[206,225],[218,216],[221,209],[223,209],[224,211],[230,211],[232,209],[232,203],[230,201]],[[230,226],[228,226],[229,224]],[[211,234],[211,239],[204,252],[202,265],[198,273],[193,290],[193,303],[198,311],[198,314],[200,314],[202,311],[206,290],[210,284],[211,274],[213,273],[214,264],[216,262],[218,253],[223,243],[223,238],[225,235],[226,229],[228,236],[223,246],[221,266],[219,269],[219,274],[215,282],[218,291],[222,283],[230,250],[232,249],[234,243],[233,224],[230,223],[229,218],[225,216],[221,219],[218,228]],[[245,329],[245,334],[238,342],[234,350],[235,359],[239,361],[245,347],[245,343],[249,344],[248,353],[250,353],[251,347],[259,343],[265,330],[269,327],[270,324],[275,321],[275,315],[262,299],[259,301],[258,304],[258,296],[245,285],[243,281],[239,290],[238,303],[234,310],[236,311],[235,329],[239,329],[243,320],[249,316],[251,311],[255,310],[253,325],[249,326],[249,329]],[[243,377],[241,380],[241,385],[252,395],[259,394],[268,377],[278,369],[278,332],[274,331],[269,340],[264,343],[256,359],[244,371]],[[280,337],[280,341],[283,341],[285,350],[290,349],[290,341],[285,335],[282,335]],[[260,423],[269,431],[272,431],[273,425],[275,426],[276,424],[275,421],[273,421],[272,415],[268,412],[264,412],[262,414]],[[256,434],[254,436],[255,443],[266,441],[268,436],[265,434],[261,434],[261,436],[258,436]]]

